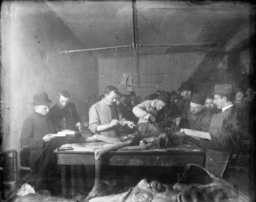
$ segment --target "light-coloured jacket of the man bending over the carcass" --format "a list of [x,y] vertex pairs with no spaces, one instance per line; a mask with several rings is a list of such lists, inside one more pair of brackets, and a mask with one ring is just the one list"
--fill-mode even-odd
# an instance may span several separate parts
[[156,110],[156,100],[145,100],[132,109],[132,112],[136,117],[140,118],[137,125],[140,123],[148,122],[148,117],[152,114],[157,116],[158,111]]

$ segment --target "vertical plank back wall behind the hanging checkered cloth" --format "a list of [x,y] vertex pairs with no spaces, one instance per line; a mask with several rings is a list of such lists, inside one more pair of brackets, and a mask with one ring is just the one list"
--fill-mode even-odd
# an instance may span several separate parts
[[[153,94],[158,89],[169,92],[177,91],[181,83],[187,81],[193,74],[205,55],[205,51],[139,55],[139,71],[141,75],[133,75],[133,90],[140,96],[141,101],[148,99],[149,94]],[[114,85],[122,93],[128,94],[124,85],[119,86],[122,76],[114,75],[135,74],[134,57],[98,58],[98,69],[99,95],[103,94],[107,85]],[[138,79],[140,79],[140,88]]]

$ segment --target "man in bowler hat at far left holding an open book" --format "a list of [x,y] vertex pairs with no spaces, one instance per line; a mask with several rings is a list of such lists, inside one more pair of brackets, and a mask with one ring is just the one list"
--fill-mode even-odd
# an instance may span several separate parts
[[35,176],[35,188],[47,189],[49,169],[55,166],[53,151],[60,146],[51,136],[51,123],[46,121],[52,101],[45,92],[33,96],[34,113],[23,123],[20,135],[20,147],[30,148],[29,167]]

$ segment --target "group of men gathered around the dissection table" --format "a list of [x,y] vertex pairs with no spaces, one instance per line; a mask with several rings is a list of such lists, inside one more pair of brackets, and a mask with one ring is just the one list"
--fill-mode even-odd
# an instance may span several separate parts
[[[185,101],[183,112],[177,117],[172,117],[171,122],[177,125],[186,125],[186,128],[209,132],[212,140],[185,138],[187,142],[198,144],[206,149],[206,168],[218,176],[222,176],[227,159],[232,148],[239,149],[238,142],[243,137],[241,125],[235,115],[235,106],[231,102],[232,86],[223,84],[215,85],[214,100],[212,97],[203,100],[200,94],[192,91],[192,83],[183,82],[178,89],[180,96]],[[155,122],[157,115],[163,111],[166,105],[174,105],[177,98],[166,91],[161,91],[154,100],[145,100],[140,104],[132,106],[132,114],[137,117],[137,125],[145,122]],[[89,129],[94,134],[106,137],[118,137],[121,125],[134,128],[136,125],[122,116],[125,106],[125,96],[120,97],[117,107],[116,99],[119,91],[116,87],[108,85],[105,88],[102,100],[90,107]],[[81,128],[81,120],[76,107],[70,101],[67,91],[60,91],[57,103],[52,108],[52,101],[48,99],[45,92],[36,93],[33,97],[34,113],[25,120],[20,137],[20,146],[31,148],[29,164],[31,171],[35,174],[38,189],[42,188],[41,182],[47,179],[49,168],[52,166],[53,150],[66,139],[57,139],[51,134],[58,131],[78,131]],[[134,100],[135,101],[135,100]],[[214,114],[215,104],[219,113]],[[121,109],[121,111],[120,111]],[[216,110],[218,112],[218,110]],[[164,117],[166,118],[166,117]],[[162,120],[160,120],[162,121]],[[56,163],[56,162],[55,162]],[[37,184],[36,184],[37,185]],[[45,187],[43,187],[45,188]]]

